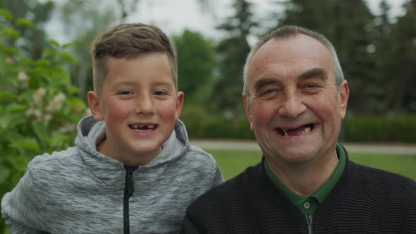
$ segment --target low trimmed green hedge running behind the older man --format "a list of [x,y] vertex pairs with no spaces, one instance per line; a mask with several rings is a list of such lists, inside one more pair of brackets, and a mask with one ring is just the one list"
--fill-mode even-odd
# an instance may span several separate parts
[[[186,106],[181,114],[190,138],[255,140],[246,116],[228,119],[207,113],[201,106]],[[345,142],[416,143],[416,115],[348,116],[340,140]]]

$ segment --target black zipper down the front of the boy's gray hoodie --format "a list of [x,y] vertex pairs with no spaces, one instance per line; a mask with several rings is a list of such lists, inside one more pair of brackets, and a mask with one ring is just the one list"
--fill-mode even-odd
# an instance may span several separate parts
[[123,198],[123,226],[124,234],[130,233],[130,217],[128,212],[128,199],[133,195],[134,192],[134,181],[133,181],[133,171],[137,169],[138,166],[127,166],[126,168],[126,184],[124,185],[124,198]]

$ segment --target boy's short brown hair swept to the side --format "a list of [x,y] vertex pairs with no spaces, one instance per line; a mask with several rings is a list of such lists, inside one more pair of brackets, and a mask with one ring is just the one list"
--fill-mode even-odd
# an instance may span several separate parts
[[137,58],[152,52],[166,53],[171,63],[175,88],[178,90],[178,62],[175,47],[158,27],[126,23],[112,27],[97,36],[91,46],[94,92],[101,96],[109,57]]

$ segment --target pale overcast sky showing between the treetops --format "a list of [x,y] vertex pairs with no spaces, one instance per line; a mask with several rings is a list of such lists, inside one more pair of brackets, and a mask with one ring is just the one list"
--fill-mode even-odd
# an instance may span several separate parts
[[[276,5],[269,4],[270,0],[252,0],[255,8],[255,16],[262,20],[263,25],[267,25],[268,14],[271,11],[281,11]],[[366,0],[373,13],[378,12],[380,0]],[[392,6],[391,14],[396,16],[403,14],[401,6],[405,0],[389,0]],[[168,35],[180,34],[183,29],[188,28],[202,32],[207,37],[221,37],[221,32],[215,30],[215,25],[221,23],[224,18],[233,13],[231,4],[233,0],[211,0],[211,7],[214,11],[202,11],[198,0],[140,0],[137,12],[133,13],[128,22],[150,23],[157,25]],[[275,23],[273,22],[273,25]],[[63,32],[59,32],[59,22],[51,20],[47,25],[47,31],[54,35],[61,43],[66,43]]]

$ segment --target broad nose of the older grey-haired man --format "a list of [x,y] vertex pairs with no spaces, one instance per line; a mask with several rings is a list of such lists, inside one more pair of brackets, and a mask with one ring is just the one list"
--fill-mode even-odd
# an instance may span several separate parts
[[290,90],[286,92],[278,113],[283,117],[298,118],[306,109],[307,107],[303,103],[302,97],[299,97],[294,90]]

